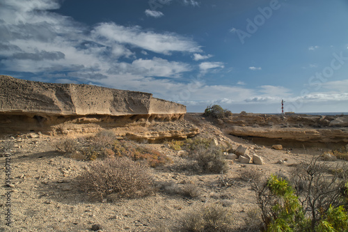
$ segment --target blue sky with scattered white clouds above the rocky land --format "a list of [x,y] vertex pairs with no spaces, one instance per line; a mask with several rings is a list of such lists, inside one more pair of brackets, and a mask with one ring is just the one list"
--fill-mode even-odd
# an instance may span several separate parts
[[0,74],[191,112],[348,111],[348,1],[0,0]]

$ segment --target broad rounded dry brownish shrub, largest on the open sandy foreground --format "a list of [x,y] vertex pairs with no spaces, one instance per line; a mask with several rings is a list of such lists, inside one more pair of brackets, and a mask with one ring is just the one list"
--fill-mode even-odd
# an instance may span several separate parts
[[147,165],[127,157],[93,161],[81,175],[81,187],[102,199],[109,194],[147,196],[154,190]]

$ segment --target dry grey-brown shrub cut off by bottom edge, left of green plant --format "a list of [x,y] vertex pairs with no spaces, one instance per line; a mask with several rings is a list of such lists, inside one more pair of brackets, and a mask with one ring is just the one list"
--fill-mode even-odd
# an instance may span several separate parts
[[228,231],[232,219],[228,210],[221,204],[209,203],[205,206],[192,206],[181,219],[184,231]]

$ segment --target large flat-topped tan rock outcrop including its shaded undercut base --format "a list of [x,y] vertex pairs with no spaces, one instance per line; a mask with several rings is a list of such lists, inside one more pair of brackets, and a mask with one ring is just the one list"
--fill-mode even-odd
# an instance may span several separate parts
[[[87,84],[31,82],[0,75],[0,133],[40,131],[46,134],[98,130],[182,120],[186,107],[153,98],[151,93]],[[132,139],[191,137],[198,129],[128,131]]]

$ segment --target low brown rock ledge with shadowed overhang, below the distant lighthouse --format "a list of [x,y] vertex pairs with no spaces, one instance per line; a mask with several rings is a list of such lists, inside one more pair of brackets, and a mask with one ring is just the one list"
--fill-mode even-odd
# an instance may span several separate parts
[[257,144],[342,146],[348,143],[347,116],[235,114],[223,118],[223,132]]

